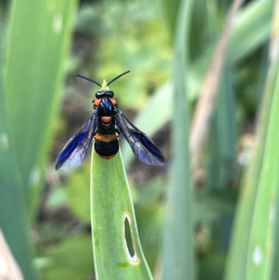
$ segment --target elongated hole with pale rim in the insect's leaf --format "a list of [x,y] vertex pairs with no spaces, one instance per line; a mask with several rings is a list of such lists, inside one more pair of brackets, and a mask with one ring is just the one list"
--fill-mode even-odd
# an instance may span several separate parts
[[133,241],[133,230],[131,230],[131,220],[128,212],[125,212],[123,215],[123,242],[128,259],[133,263],[137,262],[138,258]]

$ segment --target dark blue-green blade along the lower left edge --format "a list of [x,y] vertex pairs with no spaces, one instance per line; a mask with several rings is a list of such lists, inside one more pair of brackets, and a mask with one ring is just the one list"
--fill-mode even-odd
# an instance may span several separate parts
[[[3,35],[1,28],[0,34]],[[36,278],[31,267],[32,250],[29,244],[27,207],[8,126],[1,38],[3,36],[0,36],[0,230],[22,270],[24,279],[33,280]],[[0,277],[1,275],[0,273]]]

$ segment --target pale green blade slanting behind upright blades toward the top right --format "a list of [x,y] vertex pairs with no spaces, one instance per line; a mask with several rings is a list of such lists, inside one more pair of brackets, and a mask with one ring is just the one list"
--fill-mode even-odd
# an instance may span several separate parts
[[[239,64],[241,61],[251,56],[264,41],[268,40],[272,3],[271,0],[251,1],[251,3],[243,7],[243,9],[236,15],[235,24],[232,26],[232,34],[230,36],[227,56],[225,58],[227,66],[234,67],[234,65]],[[214,18],[213,20],[216,19]],[[259,28],[255,29],[255,26]],[[249,34],[249,36],[247,36],[247,34]],[[197,98],[215,43],[216,39],[213,43],[208,43],[205,50],[199,54],[197,59],[191,61],[187,73],[187,96],[190,103],[193,103]],[[247,67],[247,64],[245,64],[244,68],[248,73],[255,69],[255,67]],[[255,76],[250,75],[250,77],[253,77],[255,82]],[[245,82],[244,77],[241,82]],[[250,86],[250,84],[248,84],[248,86]],[[243,90],[247,91],[245,87],[241,88],[241,91]],[[172,80],[165,82],[156,89],[149,104],[146,105],[142,112],[140,112],[140,115],[135,119],[135,125],[149,133],[149,135],[158,132],[160,128],[167,124],[167,122],[173,117],[173,92]],[[241,98],[247,98],[247,94],[244,96],[242,94]],[[249,106],[251,105],[251,101],[254,100],[254,98],[250,98],[249,100],[250,102],[248,101],[248,103],[246,103],[246,107],[247,104]],[[164,112],[164,114],[160,115],[157,110]],[[246,108],[244,110],[246,110]],[[156,115],[160,115],[159,121],[154,121],[153,123],[146,121],[147,119],[152,119],[152,117]],[[128,149],[128,145],[125,143],[123,147],[123,158],[127,166],[131,162],[133,156],[131,153],[127,152]]]

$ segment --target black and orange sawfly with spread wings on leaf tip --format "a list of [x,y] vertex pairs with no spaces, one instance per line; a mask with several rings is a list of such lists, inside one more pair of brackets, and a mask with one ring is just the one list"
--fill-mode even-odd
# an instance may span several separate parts
[[101,88],[96,92],[96,99],[92,101],[93,112],[59,154],[55,165],[56,170],[68,170],[80,165],[91,142],[95,142],[95,151],[101,158],[112,159],[119,151],[118,137],[120,134],[127,140],[140,161],[151,165],[165,163],[163,153],[153,141],[118,110],[117,101],[113,98],[114,92],[108,88],[109,84],[129,72],[121,73],[109,83],[104,80],[103,84],[76,74],[77,77],[98,84]]

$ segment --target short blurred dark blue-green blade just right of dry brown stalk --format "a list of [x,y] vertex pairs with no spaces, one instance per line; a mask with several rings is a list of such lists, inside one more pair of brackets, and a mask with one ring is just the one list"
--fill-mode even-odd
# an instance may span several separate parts
[[223,73],[209,132],[208,182],[212,188],[232,184],[236,176],[236,119],[232,73]]

